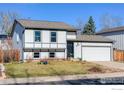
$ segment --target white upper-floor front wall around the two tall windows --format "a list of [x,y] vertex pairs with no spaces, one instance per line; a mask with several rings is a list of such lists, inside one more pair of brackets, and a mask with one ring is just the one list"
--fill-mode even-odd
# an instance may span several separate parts
[[[34,31],[41,31],[41,42],[34,41]],[[57,33],[57,41],[50,42],[50,32]],[[66,31],[25,30],[24,48],[66,48]]]

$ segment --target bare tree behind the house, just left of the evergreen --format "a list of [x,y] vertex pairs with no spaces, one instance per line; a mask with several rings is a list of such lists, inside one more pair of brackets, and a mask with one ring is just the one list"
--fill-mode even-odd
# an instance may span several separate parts
[[76,26],[75,26],[75,27],[78,29],[77,35],[80,35],[81,32],[82,32],[83,29],[84,29],[84,22],[82,21],[81,18],[78,18],[78,19],[76,20]]

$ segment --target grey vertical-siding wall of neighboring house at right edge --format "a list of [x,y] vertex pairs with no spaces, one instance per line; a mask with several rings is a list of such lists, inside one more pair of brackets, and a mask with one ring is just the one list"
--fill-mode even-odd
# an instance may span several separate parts
[[104,33],[100,35],[114,40],[114,48],[117,48],[118,50],[124,50],[124,31]]

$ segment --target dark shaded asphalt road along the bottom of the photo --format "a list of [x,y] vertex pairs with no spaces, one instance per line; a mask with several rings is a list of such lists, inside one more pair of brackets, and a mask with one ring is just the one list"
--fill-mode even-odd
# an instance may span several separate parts
[[16,85],[124,85],[124,77],[104,78],[104,79],[78,79],[39,83],[16,83]]

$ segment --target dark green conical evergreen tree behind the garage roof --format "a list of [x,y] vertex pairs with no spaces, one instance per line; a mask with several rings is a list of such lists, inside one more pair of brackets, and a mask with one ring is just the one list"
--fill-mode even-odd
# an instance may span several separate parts
[[88,22],[84,26],[82,34],[88,35],[95,34],[95,30],[96,30],[95,22],[93,21],[92,16],[90,16]]

